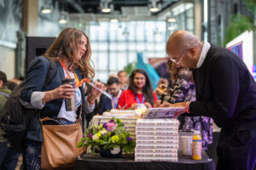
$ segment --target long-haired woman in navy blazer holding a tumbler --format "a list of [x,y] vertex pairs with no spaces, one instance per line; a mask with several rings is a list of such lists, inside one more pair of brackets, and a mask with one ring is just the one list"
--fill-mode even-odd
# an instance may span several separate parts
[[[92,88],[90,94],[84,96],[84,87],[79,87],[82,78],[92,79],[95,71],[90,65],[90,41],[84,31],[75,28],[65,28],[47,49],[44,56],[36,57],[26,72],[26,82],[20,93],[20,99],[40,110],[40,118],[53,118],[61,125],[74,124],[82,114],[93,111],[96,98],[102,93]],[[46,59],[48,58],[48,59]],[[55,77],[43,89],[49,70],[49,59],[55,60],[57,72]],[[70,84],[63,84],[64,78],[75,79],[76,88]],[[102,83],[94,82],[94,86],[102,88]],[[66,111],[64,99],[71,99],[76,95],[77,111]],[[83,105],[82,105],[83,104]],[[34,121],[31,139],[26,141],[26,169],[41,169],[42,130],[38,117]],[[32,124],[32,123],[31,123]],[[38,129],[38,131],[36,131]],[[36,136],[34,135],[36,134]]]

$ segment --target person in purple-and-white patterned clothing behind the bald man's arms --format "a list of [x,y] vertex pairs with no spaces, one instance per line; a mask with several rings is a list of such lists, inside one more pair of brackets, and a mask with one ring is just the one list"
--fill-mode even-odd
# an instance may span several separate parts
[[[172,86],[171,94],[165,97],[169,103],[195,101],[195,84],[192,80],[192,71],[180,68],[177,72],[177,80]],[[207,150],[207,144],[212,144],[212,118],[207,116],[179,116],[181,122],[179,129],[183,131],[200,130],[202,147]]]

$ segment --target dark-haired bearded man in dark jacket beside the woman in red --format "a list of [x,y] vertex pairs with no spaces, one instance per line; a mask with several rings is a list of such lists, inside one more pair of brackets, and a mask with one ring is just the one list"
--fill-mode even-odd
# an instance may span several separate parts
[[109,78],[107,85],[108,93],[111,94],[112,99],[105,95],[102,97],[101,114],[111,109],[118,109],[119,97],[122,94],[122,90],[119,88],[119,80],[116,77]]

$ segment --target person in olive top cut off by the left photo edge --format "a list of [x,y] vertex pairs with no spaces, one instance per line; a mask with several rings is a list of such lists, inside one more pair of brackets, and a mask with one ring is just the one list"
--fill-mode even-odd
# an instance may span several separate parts
[[[6,86],[7,78],[3,71],[0,71],[0,119],[2,117],[3,105],[11,94]],[[3,130],[0,128],[0,169],[15,170],[19,160],[19,153],[8,147],[8,140],[3,137]]]

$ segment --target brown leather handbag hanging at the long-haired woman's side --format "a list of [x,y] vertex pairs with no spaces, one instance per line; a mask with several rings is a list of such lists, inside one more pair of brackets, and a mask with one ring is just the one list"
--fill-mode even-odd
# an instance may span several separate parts
[[80,121],[70,125],[43,125],[43,122],[49,120],[55,121],[49,117],[40,119],[44,139],[41,168],[74,167],[75,158],[85,151],[77,147],[83,138]]

